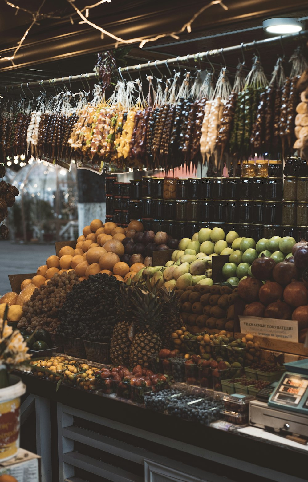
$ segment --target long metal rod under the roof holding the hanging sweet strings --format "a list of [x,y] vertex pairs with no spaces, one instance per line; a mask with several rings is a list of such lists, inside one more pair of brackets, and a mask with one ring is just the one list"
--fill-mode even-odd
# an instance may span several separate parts
[[[214,49],[214,50],[209,50],[207,52],[199,52],[198,54],[191,54],[191,55],[184,55],[184,56],[178,56],[175,58],[168,58],[166,60],[155,60],[154,62],[148,62],[147,64],[139,64],[139,65],[134,65],[134,66],[129,66],[129,67],[121,67],[119,68],[119,72],[121,73],[128,73],[128,72],[138,72],[140,70],[150,70],[150,69],[157,69],[157,67],[166,67],[169,66],[170,64],[175,64],[179,65],[180,62],[189,62],[189,60],[193,61],[203,61],[205,58],[205,62],[207,62],[208,57],[215,57],[215,56],[221,56],[222,52],[224,54],[230,54],[234,52],[239,52],[243,50],[256,50],[258,47],[264,46],[264,45],[272,45],[275,43],[279,43],[282,40],[297,40],[299,38],[307,38],[308,37],[308,30],[304,30],[302,32],[296,32],[293,34],[287,34],[287,35],[280,35],[278,37],[271,37],[268,39],[264,40],[254,40],[253,42],[249,43],[242,43],[240,45],[234,45],[232,47],[225,47],[224,49]],[[49,80],[39,80],[36,82],[28,82],[28,83],[22,83],[22,84],[11,84],[11,85],[6,85],[4,87],[4,92],[10,92],[13,90],[18,90],[20,88],[28,87],[28,89],[35,88],[35,87],[47,87],[47,86],[52,86],[52,85],[59,85],[59,84],[64,84],[66,82],[82,82],[82,80],[92,80],[92,79],[98,79],[98,73],[91,72],[87,74],[81,74],[81,75],[70,75],[70,77],[62,77],[59,79],[49,79]],[[3,92],[3,91],[2,91]]]

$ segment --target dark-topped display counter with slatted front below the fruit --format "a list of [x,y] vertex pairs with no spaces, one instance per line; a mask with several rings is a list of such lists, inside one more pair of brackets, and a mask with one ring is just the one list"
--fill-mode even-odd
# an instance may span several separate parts
[[56,391],[56,383],[21,377],[22,416],[36,404],[42,482],[307,480],[307,445],[277,434],[225,421],[203,426],[114,394]]

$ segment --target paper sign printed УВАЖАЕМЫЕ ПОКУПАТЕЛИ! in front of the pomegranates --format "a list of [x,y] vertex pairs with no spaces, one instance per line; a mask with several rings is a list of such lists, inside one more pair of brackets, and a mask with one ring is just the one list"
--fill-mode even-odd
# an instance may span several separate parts
[[239,316],[241,333],[268,336],[278,340],[298,343],[297,321],[259,318],[257,316]]

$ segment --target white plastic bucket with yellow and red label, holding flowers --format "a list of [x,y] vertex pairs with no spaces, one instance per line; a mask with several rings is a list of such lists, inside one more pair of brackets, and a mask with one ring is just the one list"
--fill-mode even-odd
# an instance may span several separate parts
[[18,376],[9,376],[10,386],[0,388],[0,463],[13,458],[19,448],[20,397],[26,392]]

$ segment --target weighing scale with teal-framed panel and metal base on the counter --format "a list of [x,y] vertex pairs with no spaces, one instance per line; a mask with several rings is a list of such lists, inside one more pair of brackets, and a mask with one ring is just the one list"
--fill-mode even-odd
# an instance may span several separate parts
[[268,404],[250,402],[249,421],[256,427],[308,438],[308,360],[285,363],[285,367]]

